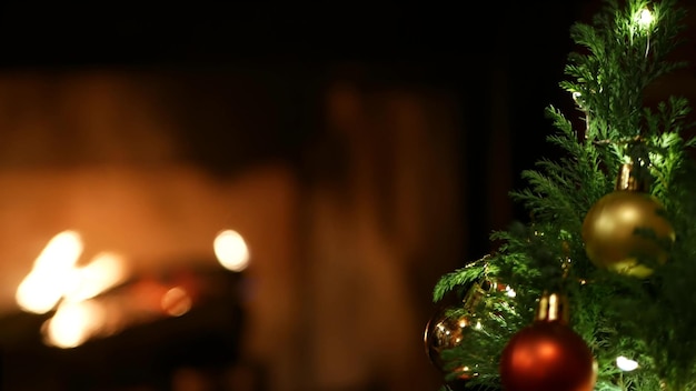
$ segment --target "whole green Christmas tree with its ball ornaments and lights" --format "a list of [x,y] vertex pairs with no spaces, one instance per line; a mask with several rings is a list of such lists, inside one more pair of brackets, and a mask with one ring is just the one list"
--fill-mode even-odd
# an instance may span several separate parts
[[435,285],[425,343],[444,390],[696,390],[690,108],[645,99],[686,66],[685,14],[608,0],[570,28],[560,88],[579,111],[547,108],[560,157],[510,193],[529,221]]

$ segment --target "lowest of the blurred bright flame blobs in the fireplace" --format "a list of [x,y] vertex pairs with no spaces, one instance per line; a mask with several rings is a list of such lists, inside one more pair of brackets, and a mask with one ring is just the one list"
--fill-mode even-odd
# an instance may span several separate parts
[[76,348],[99,331],[103,322],[103,310],[93,301],[62,302],[47,321],[46,341],[58,348]]

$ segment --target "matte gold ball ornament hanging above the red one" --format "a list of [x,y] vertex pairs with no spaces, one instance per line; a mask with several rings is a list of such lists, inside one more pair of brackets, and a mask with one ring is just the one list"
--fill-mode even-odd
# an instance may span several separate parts
[[[660,213],[659,200],[646,192],[617,190],[599,199],[583,222],[583,240],[589,260],[600,269],[646,278],[653,269],[639,257],[667,262],[664,242],[674,242],[675,231]],[[657,240],[636,230],[653,230]]]

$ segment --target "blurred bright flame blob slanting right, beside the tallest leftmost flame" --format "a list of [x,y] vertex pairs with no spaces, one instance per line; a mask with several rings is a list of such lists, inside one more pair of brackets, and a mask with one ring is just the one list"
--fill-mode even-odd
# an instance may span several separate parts
[[64,292],[66,300],[79,301],[96,297],[126,280],[123,258],[112,252],[102,252],[88,264],[71,272],[71,283]]

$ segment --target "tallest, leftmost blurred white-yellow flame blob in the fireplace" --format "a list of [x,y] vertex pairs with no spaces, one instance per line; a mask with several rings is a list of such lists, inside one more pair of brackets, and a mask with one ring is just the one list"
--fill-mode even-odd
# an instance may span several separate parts
[[17,304],[24,311],[46,313],[53,309],[69,283],[69,273],[82,253],[77,232],[53,237],[36,259],[33,269],[17,288]]

